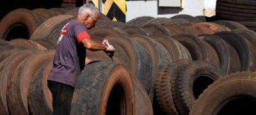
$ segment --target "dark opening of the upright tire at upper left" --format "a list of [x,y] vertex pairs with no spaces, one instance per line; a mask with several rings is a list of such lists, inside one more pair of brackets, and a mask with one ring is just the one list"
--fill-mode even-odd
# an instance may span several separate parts
[[4,39],[7,41],[13,40],[15,38],[24,38],[29,40],[29,31],[23,24],[15,24],[4,35]]

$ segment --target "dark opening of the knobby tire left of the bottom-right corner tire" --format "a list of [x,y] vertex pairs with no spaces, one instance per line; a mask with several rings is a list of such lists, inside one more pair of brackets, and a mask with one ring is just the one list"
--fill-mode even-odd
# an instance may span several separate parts
[[193,94],[195,99],[197,99],[199,95],[203,93],[204,89],[206,89],[213,82],[214,80],[207,75],[200,75],[197,77],[193,83]]

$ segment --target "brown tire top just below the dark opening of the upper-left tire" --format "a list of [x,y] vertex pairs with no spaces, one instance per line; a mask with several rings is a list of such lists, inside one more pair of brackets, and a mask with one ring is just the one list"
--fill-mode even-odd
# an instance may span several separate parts
[[26,49],[47,50],[47,48],[45,48],[43,45],[40,45],[40,43],[36,43],[32,40],[26,40],[23,38],[11,40],[10,43],[16,47],[24,47]]

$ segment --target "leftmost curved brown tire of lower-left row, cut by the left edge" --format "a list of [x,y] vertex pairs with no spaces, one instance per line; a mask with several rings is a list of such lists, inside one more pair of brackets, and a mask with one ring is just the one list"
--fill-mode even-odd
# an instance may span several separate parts
[[[17,52],[4,59],[0,63],[0,113],[8,114],[8,104],[7,104],[7,86],[11,84],[9,81],[10,76],[15,72],[15,70],[20,66],[20,64],[28,57],[29,55],[35,53],[35,50],[23,50],[21,52]],[[13,83],[15,84],[15,83]]]

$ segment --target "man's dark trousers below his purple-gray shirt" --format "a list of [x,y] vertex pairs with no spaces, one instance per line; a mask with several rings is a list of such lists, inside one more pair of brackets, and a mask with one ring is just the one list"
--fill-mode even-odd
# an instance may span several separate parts
[[60,82],[48,81],[48,88],[52,93],[53,115],[70,114],[74,87]]

